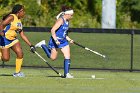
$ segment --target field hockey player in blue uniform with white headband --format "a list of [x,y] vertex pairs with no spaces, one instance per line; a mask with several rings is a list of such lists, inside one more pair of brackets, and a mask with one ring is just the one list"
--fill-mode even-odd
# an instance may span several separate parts
[[[62,12],[57,15],[57,21],[51,29],[51,37],[46,46],[45,40],[37,43],[35,47],[41,47],[48,58],[55,60],[57,58],[58,50],[61,49],[64,55],[64,78],[73,78],[69,73],[70,69],[70,46],[69,42],[74,41],[67,35],[69,29],[69,20],[72,18],[74,11],[69,7],[62,7]],[[69,42],[68,42],[69,41]]]

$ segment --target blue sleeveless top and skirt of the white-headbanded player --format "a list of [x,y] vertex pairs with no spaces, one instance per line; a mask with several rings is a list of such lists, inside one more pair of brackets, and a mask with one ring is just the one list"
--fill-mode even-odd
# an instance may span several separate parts
[[69,28],[69,22],[64,20],[63,17],[61,17],[61,18],[63,19],[63,24],[56,31],[56,37],[57,37],[57,40],[60,42],[60,45],[56,45],[53,37],[51,37],[49,44],[48,44],[50,48],[62,48],[64,46],[68,45],[66,35],[68,33],[67,31]]

